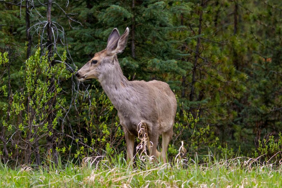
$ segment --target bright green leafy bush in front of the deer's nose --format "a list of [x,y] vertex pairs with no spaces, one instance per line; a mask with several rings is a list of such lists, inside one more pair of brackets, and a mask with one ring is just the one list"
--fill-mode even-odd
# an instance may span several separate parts
[[[70,78],[66,70],[66,53],[61,63],[50,66],[47,54],[36,53],[24,62],[14,79],[8,53],[0,53],[2,89],[1,108],[1,157],[19,163],[41,164],[41,157],[47,154],[58,161],[55,150],[61,143],[57,131],[63,123],[68,104],[61,82]],[[12,73],[15,74],[15,73]],[[18,88],[11,88],[16,82]],[[8,154],[8,155],[7,155]]]

